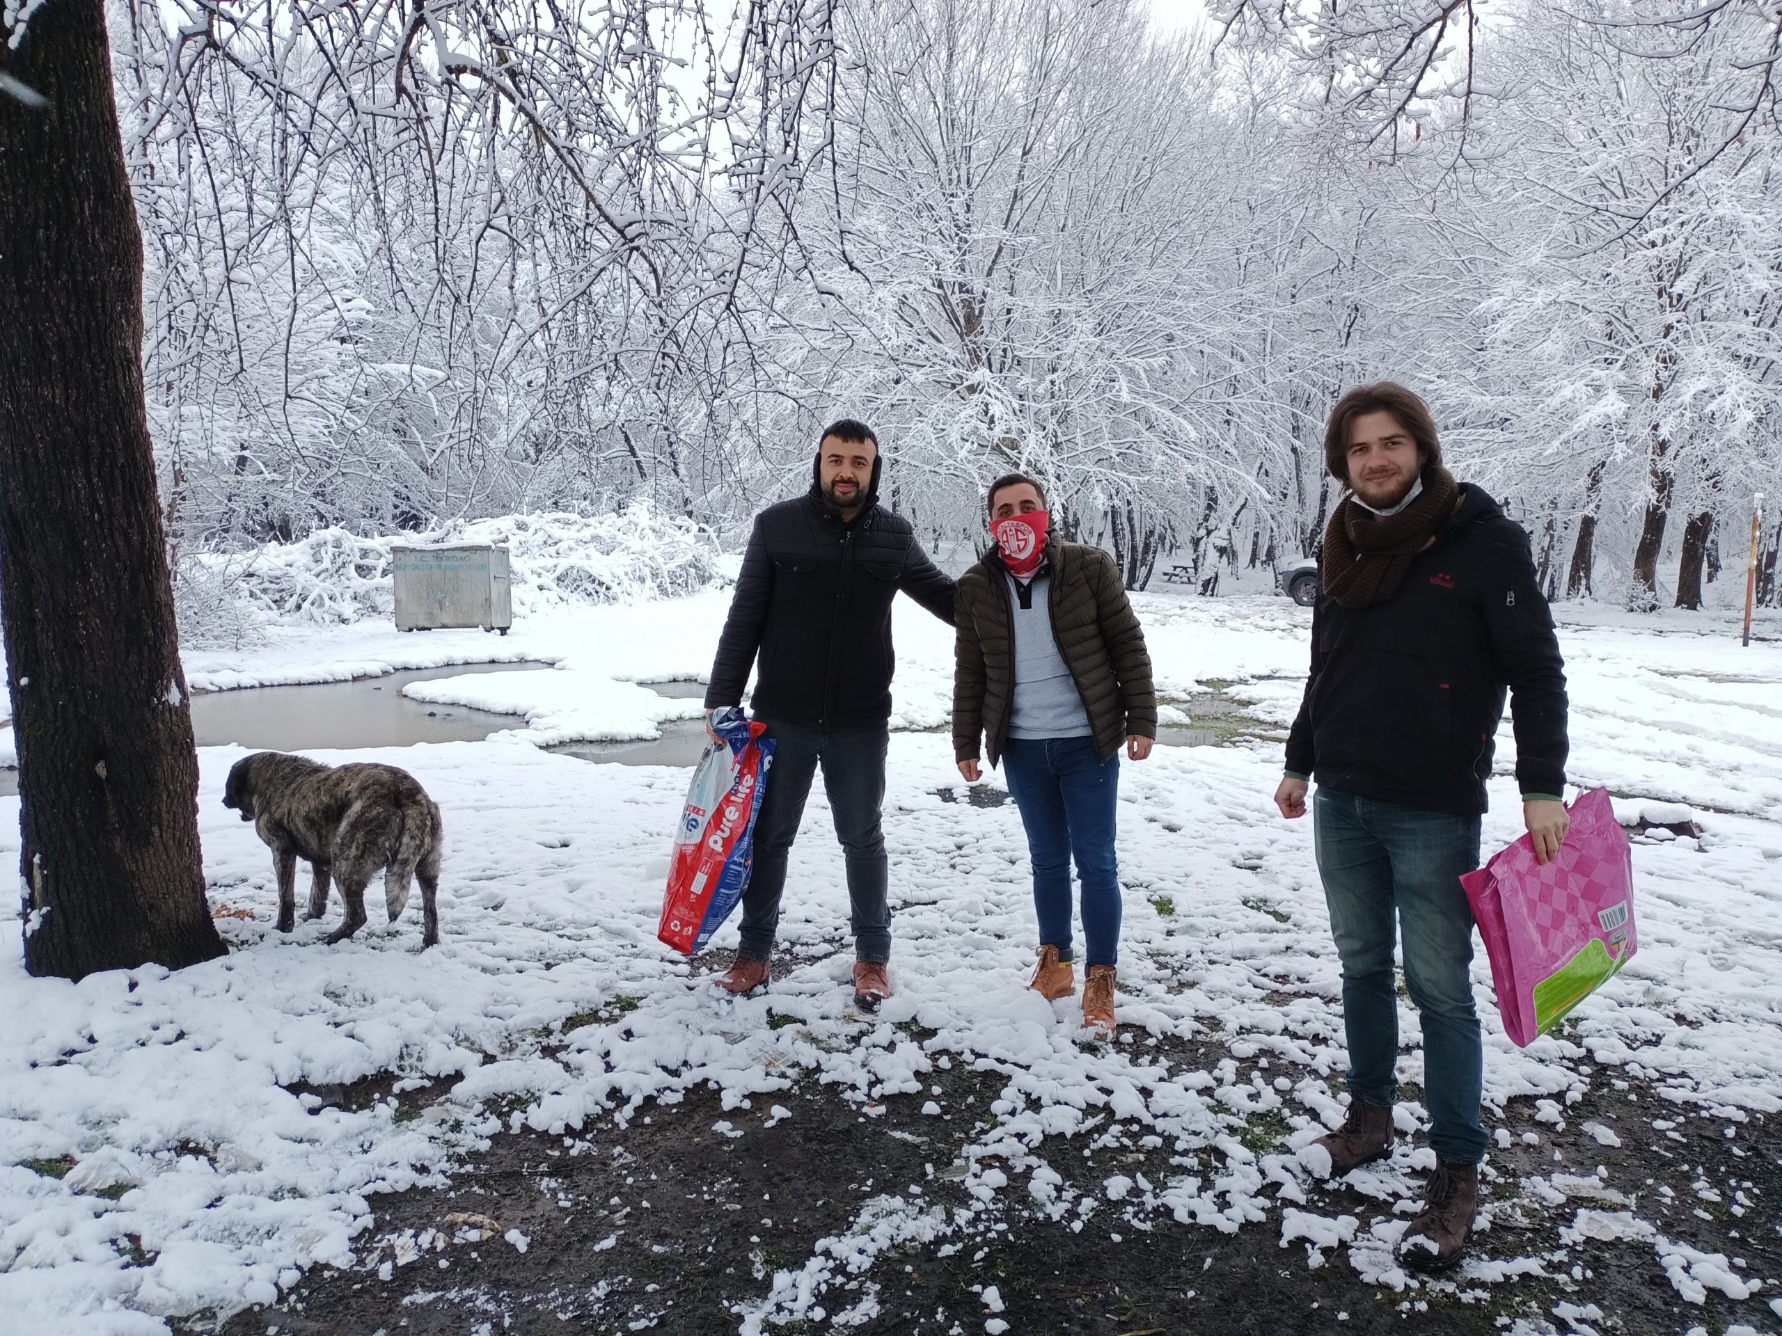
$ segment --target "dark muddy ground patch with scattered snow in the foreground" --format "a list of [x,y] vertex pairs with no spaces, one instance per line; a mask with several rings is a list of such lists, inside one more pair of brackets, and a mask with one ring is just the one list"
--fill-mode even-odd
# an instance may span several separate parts
[[[1208,1044],[1171,1058],[1212,1067],[1231,1055]],[[1255,1065],[1240,1062],[1242,1076]],[[1267,1076],[1281,1074],[1301,1076],[1274,1058]],[[934,1202],[962,1224],[893,1247],[857,1275],[838,1263],[841,1279],[823,1295],[822,1316],[813,1311],[763,1331],[843,1329],[843,1315],[854,1324],[845,1329],[884,1334],[1680,1336],[1702,1327],[1720,1336],[1736,1324],[1759,1332],[1782,1327],[1770,1307],[1782,1297],[1778,1120],[1709,1117],[1609,1069],[1597,1069],[1591,1094],[1561,1112],[1563,1129],[1550,1106],[1531,1101],[1488,1120],[1509,1131],[1511,1145],[1493,1147],[1488,1161],[1492,1222],[1475,1238],[1475,1256],[1522,1259],[1506,1268],[1522,1272],[1536,1259],[1545,1274],[1404,1290],[1367,1284],[1340,1245],[1312,1267],[1303,1242],[1279,1243],[1279,1211],[1222,1234],[1116,1201],[1053,1220],[1019,1181],[984,1204],[966,1192],[960,1153],[980,1142],[1003,1081],[959,1062],[934,1072],[934,1085],[939,1090],[925,1096],[934,1094],[944,1115],[925,1115],[925,1096],[861,1104],[809,1079],[745,1108],[723,1110],[715,1092],[700,1090],[679,1104],[645,1104],[625,1126],[606,1122],[570,1136],[499,1133],[456,1165],[447,1186],[372,1199],[374,1226],[360,1236],[353,1268],[317,1268],[276,1307],[226,1322],[194,1318],[180,1331],[734,1332],[770,1293],[777,1270],[798,1270],[820,1240],[862,1229],[868,1202],[886,1195]],[[385,1079],[314,1094],[346,1104],[394,1097],[412,1115],[447,1087],[392,1096]],[[1602,1129],[1622,1144],[1606,1145]],[[1155,1145],[1137,1124],[1112,1138],[1108,1128],[1099,1131],[1099,1149],[1080,1138],[1082,1170],[1069,1177],[1162,1185],[1185,1161],[1212,1158]],[[1285,1131],[1258,1122],[1244,1140],[1271,1151]],[[1059,1165],[1076,1151],[1048,1142],[1044,1153]],[[1556,1176],[1568,1176],[1557,1179],[1563,1193],[1552,1190]],[[1372,1222],[1394,1218],[1390,1201],[1344,1185],[1308,1195],[1303,1210],[1354,1215],[1363,1236]],[[1714,1291],[1686,1302],[1650,1242],[1568,1245],[1561,1231],[1579,1208],[1631,1210],[1670,1240],[1725,1254],[1764,1288],[1745,1302]],[[1000,1309],[985,1304],[987,1286]]]

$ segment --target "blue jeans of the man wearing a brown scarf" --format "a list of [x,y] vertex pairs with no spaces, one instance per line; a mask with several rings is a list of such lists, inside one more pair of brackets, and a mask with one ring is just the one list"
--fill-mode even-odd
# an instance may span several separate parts
[[1397,1096],[1397,910],[1404,983],[1424,1022],[1429,1147],[1443,1163],[1475,1165],[1484,1158],[1484,1044],[1472,1003],[1472,907],[1459,876],[1479,866],[1479,818],[1319,786],[1312,819],[1342,958],[1349,1094],[1369,1104]]

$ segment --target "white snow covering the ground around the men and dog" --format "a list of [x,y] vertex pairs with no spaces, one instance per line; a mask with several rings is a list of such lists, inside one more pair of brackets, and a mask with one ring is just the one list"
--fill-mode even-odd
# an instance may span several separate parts
[[[1137,606],[1160,689],[1185,698],[1221,686],[1285,725],[1304,672],[1306,611],[1269,597],[1146,595]],[[905,602],[896,723],[907,732],[893,737],[886,802],[898,992],[879,1022],[861,1024],[846,1006],[846,898],[820,791],[788,882],[782,949],[797,965],[770,999],[718,1001],[659,946],[686,771],[588,764],[538,745],[649,737],[661,721],[697,713],[697,702],[636,682],[704,675],[723,607],[722,593],[560,607],[504,639],[399,636],[369,622],[283,627],[253,650],[187,656],[194,688],[483,659],[556,666],[408,688],[519,716],[513,732],[485,743],[319,754],[406,766],[440,803],[438,949],[417,953],[413,916],[335,948],[321,937],[339,908],[296,933],[273,932],[271,859],[219,803],[241,748],[200,757],[205,864],[226,958],[178,974],[146,967],[66,983],[27,978],[18,942],[0,942],[7,1331],[151,1332],[164,1329],[162,1316],[269,1302],[299,1268],[344,1265],[364,1249],[372,1193],[431,1181],[456,1151],[503,1126],[625,1119],[645,1101],[707,1083],[731,1108],[807,1076],[861,1104],[925,1097],[932,1067],[957,1062],[1007,1083],[994,1126],[977,1142],[982,1154],[968,1156],[966,1185],[980,1199],[1019,1195],[1062,1213],[1085,1195],[1107,1197],[1107,1210],[1128,1215],[1258,1227],[1271,1242],[1308,1243],[1317,1261],[1347,1245],[1370,1281],[1418,1283],[1390,1263],[1402,1224],[1356,1236],[1349,1217],[1299,1210],[1308,1170],[1296,1149],[1340,1117],[1324,1078],[1342,1071],[1344,1055],[1310,823],[1272,812],[1272,743],[1158,748],[1126,766],[1124,1033],[1117,1044],[1080,1046],[1071,1003],[1048,1005],[1021,987],[1034,917],[1014,807],[937,794],[959,787],[948,737],[936,732],[948,711],[952,632]],[[1631,812],[1648,802],[1688,805],[1704,835],[1636,844],[1641,953],[1565,1037],[1515,1049],[1497,1024],[1481,953],[1486,1097],[1493,1106],[1547,1099],[1557,1120],[1568,1099],[1620,1072],[1655,1085],[1677,1110],[1729,1124],[1778,1112],[1782,645],[1741,648],[1725,618],[1566,618],[1574,778],[1607,784]],[[1766,634],[1777,629],[1770,618]],[[1500,741],[1508,761],[1508,727]],[[1495,848],[1518,834],[1518,805],[1508,778],[1492,796],[1486,844]],[[12,857],[14,832],[7,807],[0,860]],[[734,946],[734,925],[716,946]],[[560,1022],[615,998],[636,1005],[544,1051]],[[797,1024],[770,1028],[768,1006]],[[905,1021],[923,1028],[921,1044],[893,1042]],[[1214,1033],[1238,1060],[1279,1055],[1294,1079],[1244,1083],[1235,1063],[1192,1069],[1153,1053],[1153,1040]],[[1404,1037],[1402,1076],[1420,1083],[1410,1010]],[[419,1119],[397,1119],[392,1104],[315,1108],[314,1096],[287,1090],[378,1072],[431,1083],[446,1097]],[[1278,1153],[1258,1154],[1238,1133],[1271,1113],[1292,1131]],[[1420,1113],[1408,1106],[1411,1120]],[[1082,1144],[1073,1135],[1121,1122],[1205,1149],[1210,1167],[1117,1190],[1073,1181],[1071,1147]],[[1402,1147],[1363,1176],[1367,1190],[1408,1192],[1424,1156]],[[802,1268],[743,1281],[736,1325],[754,1332],[823,1304],[836,1313],[839,1290],[870,1275],[879,1250],[937,1227],[916,1199],[875,1199],[871,1213],[870,1229],[825,1240]],[[1684,1299],[1714,1290],[1743,1300],[1746,1322],[1773,1322],[1768,1302],[1782,1277],[1668,1240],[1638,1210],[1581,1210],[1575,1229],[1650,1243]],[[1468,1283],[1529,1268],[1513,1242],[1504,1242],[1509,1252],[1492,1243],[1484,1234]]]

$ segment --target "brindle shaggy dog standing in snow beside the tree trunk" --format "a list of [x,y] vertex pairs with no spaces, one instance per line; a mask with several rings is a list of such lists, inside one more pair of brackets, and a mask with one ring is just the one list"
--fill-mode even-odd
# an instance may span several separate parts
[[324,766],[283,752],[255,752],[230,768],[223,805],[253,821],[273,850],[278,873],[278,930],[290,932],[298,912],[298,859],[315,873],[305,919],[328,912],[328,878],[340,884],[346,921],[330,942],[365,925],[365,885],[381,868],[390,923],[408,905],[419,878],[426,923],[421,946],[440,939],[440,809],[415,777],[396,766]]

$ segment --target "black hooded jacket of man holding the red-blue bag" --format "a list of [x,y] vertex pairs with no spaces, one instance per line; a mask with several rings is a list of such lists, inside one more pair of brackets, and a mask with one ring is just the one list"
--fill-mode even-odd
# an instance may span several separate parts
[[891,600],[898,590],[953,623],[953,581],[921,550],[909,520],[879,506],[873,460],[866,504],[852,520],[823,501],[822,456],[811,490],[756,517],[711,664],[706,709],[736,705],[761,659],[754,713],[813,729],[891,718]]

